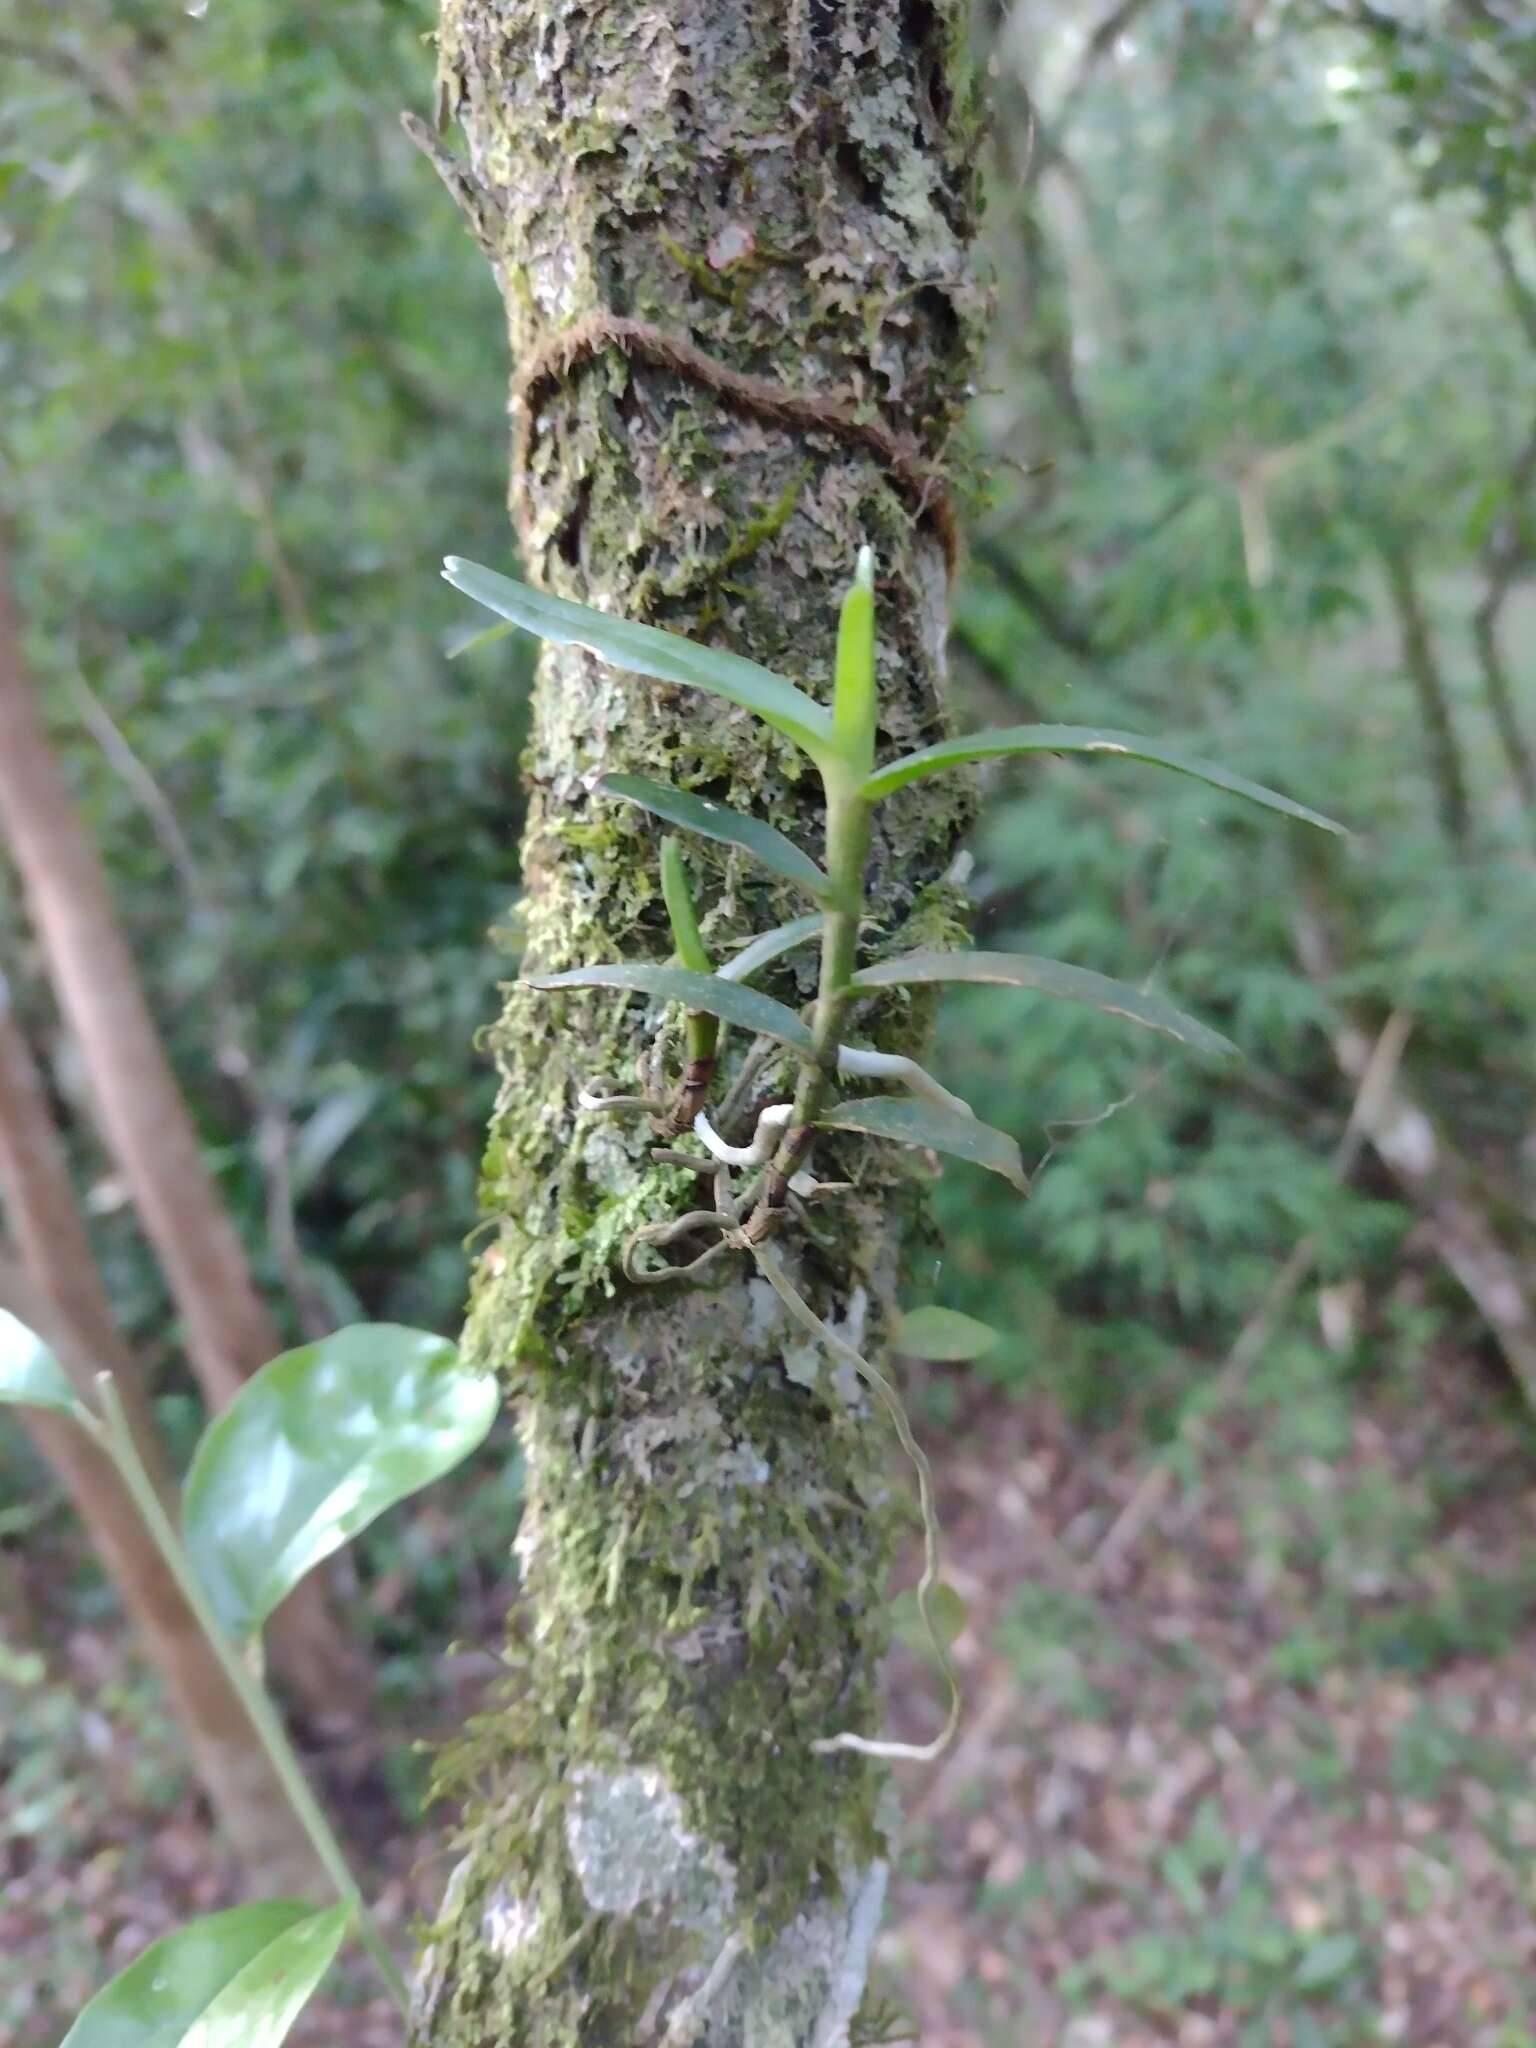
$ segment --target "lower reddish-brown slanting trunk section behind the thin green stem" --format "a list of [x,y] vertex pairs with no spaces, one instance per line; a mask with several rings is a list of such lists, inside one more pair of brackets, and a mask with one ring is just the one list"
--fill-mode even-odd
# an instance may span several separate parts
[[[6,1143],[0,1157],[8,1153]],[[20,1214],[20,1206],[12,1208],[10,1186],[6,1208]],[[100,1366],[98,1356],[37,1278],[23,1278],[20,1268],[4,1255],[0,1307],[47,1337],[80,1395],[94,1407],[92,1374]],[[133,1376],[113,1370],[119,1389],[127,1391]],[[328,1901],[334,1886],[293,1819],[238,1694],[209,1651],[166,1561],[150,1542],[111,1458],[63,1415],[27,1409],[23,1419],[86,1524],[92,1548],[137,1626],[143,1655],[170,1696],[193,1769],[240,1864],[246,1894]]]

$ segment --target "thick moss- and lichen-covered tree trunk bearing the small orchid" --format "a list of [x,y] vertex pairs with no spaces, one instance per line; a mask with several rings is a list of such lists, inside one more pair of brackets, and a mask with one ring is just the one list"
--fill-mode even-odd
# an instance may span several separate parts
[[[838,598],[870,541],[887,750],[944,729],[940,485],[913,487],[879,436],[827,430],[799,399],[944,463],[983,309],[958,14],[444,0],[440,113],[467,162],[418,131],[502,283],[530,575],[825,698]],[[612,322],[625,346],[604,340]],[[815,844],[815,778],[764,727],[547,649],[524,842],[541,969],[670,954],[657,836],[594,797],[604,770]],[[885,807],[868,944],[952,936],[965,815],[942,782]],[[688,858],[717,958],[803,909],[735,856]],[[813,954],[791,956],[768,985],[799,1006],[813,975]],[[643,1118],[584,1114],[575,1094],[594,1075],[631,1085],[657,1022],[621,997],[512,989],[494,1032],[500,1229],[467,1341],[522,1403],[526,1597],[506,1704],[444,1757],[469,1804],[420,1970],[422,2042],[825,2048],[864,1989],[883,1774],[811,1743],[877,1733],[899,1495],[858,1386],[750,1266],[621,1282],[629,1233],[696,1190],[651,1163]],[[860,1030],[915,1051],[924,1016],[893,1001]],[[817,1163],[858,1192],[784,1257],[819,1313],[879,1343],[915,1182],[852,1139]]]

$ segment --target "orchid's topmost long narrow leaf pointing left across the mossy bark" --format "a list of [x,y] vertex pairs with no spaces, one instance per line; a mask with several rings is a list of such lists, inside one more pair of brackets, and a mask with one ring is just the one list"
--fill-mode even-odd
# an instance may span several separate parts
[[659,633],[655,627],[614,618],[612,612],[596,612],[588,604],[553,598],[510,575],[498,575],[496,569],[483,569],[477,561],[461,561],[459,555],[449,555],[442,573],[467,598],[557,647],[586,647],[631,676],[723,696],[727,705],[752,711],[811,756],[825,754],[831,743],[831,719],[817,702],[739,653],[698,647],[678,633]]

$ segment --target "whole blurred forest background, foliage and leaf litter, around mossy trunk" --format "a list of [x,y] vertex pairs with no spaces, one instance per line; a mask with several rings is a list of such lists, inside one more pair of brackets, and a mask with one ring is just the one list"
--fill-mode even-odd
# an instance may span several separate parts
[[[971,1729],[909,1786],[881,1950],[930,2048],[1536,2042],[1522,12],[979,10],[958,709],[1198,737],[1354,838],[1100,764],[999,778],[975,838],[983,942],[1155,985],[1247,1065],[944,1010],[940,1071],[1034,1196],[956,1169],[911,1274],[1001,1331],[915,1374],[971,1610]],[[434,578],[510,537],[500,303],[397,121],[428,29],[0,6],[27,666],[291,1341],[455,1331],[518,954],[528,670],[451,659]],[[197,1382],[4,858],[0,961],[180,1460]],[[414,1739],[485,1683],[516,1516],[498,1434],[342,1567],[377,1692],[324,1767],[397,1919],[440,1884]],[[43,2048],[102,1956],[236,1880],[12,1430],[0,1622],[0,2034]],[[893,1686],[926,1724],[915,1651]]]

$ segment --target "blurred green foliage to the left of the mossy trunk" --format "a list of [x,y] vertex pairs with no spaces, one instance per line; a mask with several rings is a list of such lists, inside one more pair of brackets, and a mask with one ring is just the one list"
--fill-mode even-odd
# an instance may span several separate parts
[[[496,287],[399,131],[397,0],[0,10],[0,500],[29,655],[262,1278],[453,1327],[516,885],[524,670]],[[51,1040],[0,879],[4,952]],[[113,1292],[158,1282],[55,1075]],[[293,1231],[303,1272],[283,1253]]]

